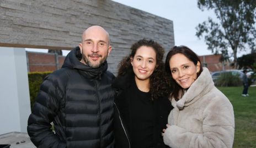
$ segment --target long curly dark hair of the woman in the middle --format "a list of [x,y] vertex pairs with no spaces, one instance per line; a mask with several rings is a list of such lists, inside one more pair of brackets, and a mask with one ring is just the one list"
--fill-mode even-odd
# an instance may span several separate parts
[[150,92],[151,92],[151,100],[155,100],[157,98],[167,96],[172,91],[171,83],[170,83],[170,76],[164,70],[164,63],[163,63],[163,54],[164,49],[159,43],[153,40],[146,40],[142,39],[135,42],[131,46],[131,53],[129,56],[124,57],[122,61],[119,63],[118,68],[118,76],[125,75],[129,72],[133,72],[131,60],[130,58],[134,58],[135,53],[138,48],[141,46],[152,47],[153,50],[156,52],[156,64],[157,67],[150,76]]

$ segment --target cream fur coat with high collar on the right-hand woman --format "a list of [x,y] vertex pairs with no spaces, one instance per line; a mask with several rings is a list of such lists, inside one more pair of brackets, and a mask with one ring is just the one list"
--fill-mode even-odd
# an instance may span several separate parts
[[169,114],[163,139],[172,148],[232,147],[234,112],[228,98],[212,81],[207,68],[179,100],[172,98],[174,109]]

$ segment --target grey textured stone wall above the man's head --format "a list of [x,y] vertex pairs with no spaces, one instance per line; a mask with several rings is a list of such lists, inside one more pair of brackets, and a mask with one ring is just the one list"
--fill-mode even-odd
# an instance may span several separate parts
[[68,50],[78,46],[84,29],[105,28],[114,47],[109,70],[126,56],[132,43],[147,38],[169,50],[173,22],[109,0],[1,0],[0,46]]

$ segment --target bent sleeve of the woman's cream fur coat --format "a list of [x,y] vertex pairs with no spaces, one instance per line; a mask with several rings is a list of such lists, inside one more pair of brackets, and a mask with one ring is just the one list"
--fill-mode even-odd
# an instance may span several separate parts
[[[172,116],[172,113],[170,114]],[[204,109],[202,133],[192,133],[189,129],[170,125],[164,133],[164,143],[176,147],[228,147],[234,139],[234,114],[230,102],[218,100]],[[174,119],[175,120],[175,119]],[[189,124],[189,123],[187,123]],[[195,125],[191,125],[191,128]]]

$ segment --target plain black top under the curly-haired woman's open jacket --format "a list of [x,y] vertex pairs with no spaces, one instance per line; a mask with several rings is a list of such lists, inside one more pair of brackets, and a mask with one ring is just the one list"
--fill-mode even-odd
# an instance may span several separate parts
[[[131,92],[131,146],[153,147],[153,129],[156,108],[154,108],[150,92],[138,89],[135,80],[130,87]],[[128,114],[124,114],[128,116]],[[143,141],[143,142],[141,142]]]

